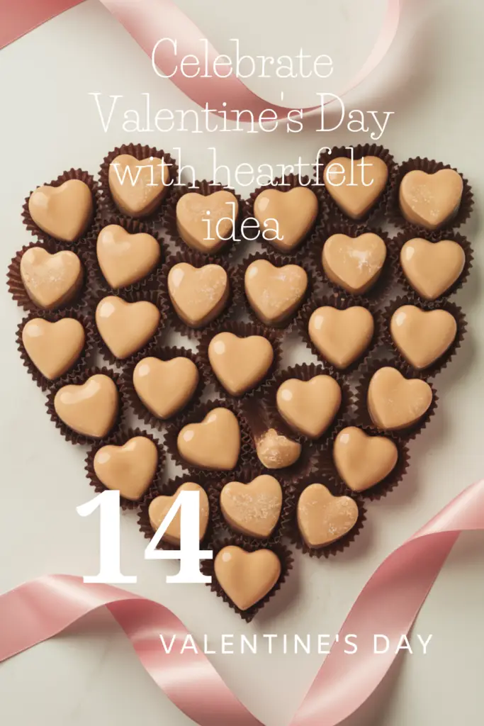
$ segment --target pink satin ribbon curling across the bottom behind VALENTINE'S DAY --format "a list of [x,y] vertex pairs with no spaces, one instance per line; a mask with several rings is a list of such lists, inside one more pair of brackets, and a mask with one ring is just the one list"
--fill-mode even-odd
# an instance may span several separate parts
[[[291,726],[337,726],[374,692],[395,659],[394,648],[375,656],[374,633],[395,644],[409,632],[457,537],[484,530],[484,480],[472,484],[398,547],[366,583],[308,690]],[[262,726],[227,688],[202,653],[160,645],[187,634],[160,603],[112,585],[83,584],[72,575],[47,575],[0,597],[0,662],[65,630],[105,605],[126,632],[149,675],[200,726]],[[346,634],[358,652],[343,653]]]

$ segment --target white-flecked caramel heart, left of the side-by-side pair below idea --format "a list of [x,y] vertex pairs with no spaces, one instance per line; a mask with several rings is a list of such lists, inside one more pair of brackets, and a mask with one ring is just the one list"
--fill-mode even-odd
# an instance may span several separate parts
[[229,300],[229,277],[220,265],[193,267],[186,262],[168,272],[168,293],[186,325],[202,327],[221,314]]

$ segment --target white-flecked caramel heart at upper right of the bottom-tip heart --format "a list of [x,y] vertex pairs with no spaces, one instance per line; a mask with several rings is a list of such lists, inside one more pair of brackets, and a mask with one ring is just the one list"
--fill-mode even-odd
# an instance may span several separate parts
[[298,527],[308,547],[317,550],[336,542],[358,521],[358,505],[351,497],[334,497],[324,484],[310,484],[298,500]]

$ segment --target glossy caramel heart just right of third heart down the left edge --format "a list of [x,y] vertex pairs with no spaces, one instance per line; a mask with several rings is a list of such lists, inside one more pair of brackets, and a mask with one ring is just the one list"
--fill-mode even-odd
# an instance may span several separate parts
[[115,295],[102,298],[96,308],[96,325],[102,340],[116,358],[141,350],[160,322],[160,311],[147,300],[127,303]]

